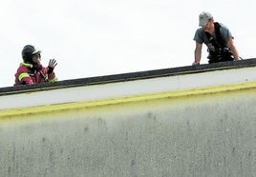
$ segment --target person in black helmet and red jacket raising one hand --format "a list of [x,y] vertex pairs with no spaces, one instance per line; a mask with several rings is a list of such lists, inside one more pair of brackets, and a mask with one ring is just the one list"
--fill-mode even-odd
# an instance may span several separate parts
[[15,73],[14,86],[57,81],[53,72],[57,65],[56,60],[51,59],[48,67],[43,67],[40,63],[41,51],[32,45],[27,45],[22,49],[22,58],[23,63]]

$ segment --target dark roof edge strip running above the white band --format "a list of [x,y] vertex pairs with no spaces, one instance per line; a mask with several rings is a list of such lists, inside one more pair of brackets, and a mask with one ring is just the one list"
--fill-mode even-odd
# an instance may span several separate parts
[[251,59],[245,59],[240,61],[203,64],[203,65],[197,65],[197,66],[145,70],[145,71],[128,72],[128,73],[120,73],[120,74],[113,74],[113,75],[63,80],[63,81],[58,81],[56,83],[42,83],[42,84],[34,84],[30,86],[24,85],[24,86],[0,88],[0,95],[32,92],[37,90],[62,89],[62,88],[71,88],[71,87],[79,87],[79,86],[99,85],[99,84],[106,84],[106,83],[113,83],[113,82],[133,81],[133,80],[139,80],[139,79],[182,75],[182,74],[188,74],[188,73],[197,73],[197,72],[205,72],[205,71],[220,70],[220,69],[249,68],[249,67],[255,67],[255,66],[256,66],[256,58],[251,58]]

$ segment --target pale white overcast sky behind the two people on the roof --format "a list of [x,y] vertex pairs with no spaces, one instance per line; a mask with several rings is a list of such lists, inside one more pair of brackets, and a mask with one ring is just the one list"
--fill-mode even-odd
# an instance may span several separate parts
[[[0,88],[13,86],[31,44],[42,64],[57,60],[58,80],[190,66],[198,16],[209,11],[255,58],[255,1],[0,0]],[[202,64],[207,63],[203,47]]]

